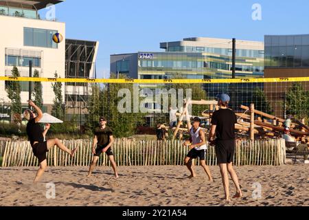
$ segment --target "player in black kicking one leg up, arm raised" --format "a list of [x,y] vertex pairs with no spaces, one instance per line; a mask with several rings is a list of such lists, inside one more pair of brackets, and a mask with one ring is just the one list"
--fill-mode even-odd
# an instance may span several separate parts
[[47,167],[46,153],[50,148],[56,145],[62,151],[69,153],[71,157],[75,155],[77,148],[73,149],[72,151],[69,150],[58,140],[58,138],[45,141],[45,135],[49,125],[47,130],[42,131],[41,126],[38,123],[43,117],[43,112],[39,107],[36,106],[36,104],[34,104],[34,102],[32,102],[32,100],[29,100],[29,105],[35,109],[36,113],[38,113],[38,115],[35,117],[33,111],[30,109],[27,109],[23,112],[24,118],[28,120],[26,131],[32,146],[32,152],[34,153],[34,156],[38,158],[38,162],[40,164],[40,168],[38,169],[36,177],[34,178],[34,181],[36,182],[43,175]]

